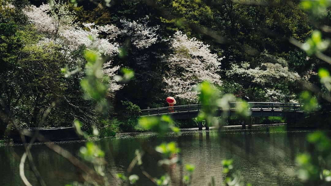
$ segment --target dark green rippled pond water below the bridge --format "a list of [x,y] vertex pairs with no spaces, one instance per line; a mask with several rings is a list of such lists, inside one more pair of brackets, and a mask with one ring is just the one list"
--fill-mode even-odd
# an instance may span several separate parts
[[[252,185],[292,185],[302,183],[295,177],[295,157],[306,152],[308,144],[306,136],[309,130],[287,130],[286,126],[264,127],[260,129],[231,130],[181,130],[179,137],[173,133],[160,138],[154,132],[117,134],[114,138],[96,139],[95,142],[105,152],[107,166],[106,175],[111,185],[118,185],[114,177],[116,173],[125,174],[127,167],[135,158],[135,150],[144,151],[155,148],[162,142],[175,141],[181,152],[181,164],[171,166],[173,185],[179,181],[185,171],[185,164],[194,164],[193,186],[208,185],[212,179],[216,185],[224,180],[221,162],[233,160],[233,173],[243,183]],[[77,155],[84,141],[67,141],[57,143],[64,149]],[[24,152],[23,145],[0,144],[0,185],[24,185],[19,174],[19,163]],[[32,156],[48,186],[71,184],[77,178],[77,169],[68,160],[48,149],[44,144],[34,144]],[[152,177],[160,178],[165,173],[158,166],[157,158],[148,151],[142,158],[144,170]],[[131,174],[139,176],[138,185],[155,185],[144,176],[138,167]],[[32,185],[39,185],[34,174],[25,163],[25,176]]]

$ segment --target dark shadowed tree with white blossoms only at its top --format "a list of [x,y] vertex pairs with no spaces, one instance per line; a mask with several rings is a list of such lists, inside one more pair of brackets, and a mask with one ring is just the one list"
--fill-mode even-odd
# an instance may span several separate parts
[[165,97],[161,56],[168,51],[168,44],[163,42],[159,26],[153,26],[148,16],[133,21],[122,19],[120,23],[117,41],[121,54],[117,60],[132,69],[135,78],[119,91],[117,98],[133,101],[142,108],[161,103]]

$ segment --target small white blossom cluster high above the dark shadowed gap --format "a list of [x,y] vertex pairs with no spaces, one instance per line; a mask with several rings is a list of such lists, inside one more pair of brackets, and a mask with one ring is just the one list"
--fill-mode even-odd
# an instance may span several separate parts
[[120,20],[123,29],[119,34],[131,38],[132,44],[138,49],[145,49],[155,44],[160,36],[156,33],[159,26],[149,27],[148,16],[137,21],[129,22],[127,20]]

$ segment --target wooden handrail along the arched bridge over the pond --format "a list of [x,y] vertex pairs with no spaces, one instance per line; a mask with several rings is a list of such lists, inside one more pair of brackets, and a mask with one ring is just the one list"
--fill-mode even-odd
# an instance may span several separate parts
[[[235,109],[240,102],[230,102],[229,109]],[[281,103],[281,102],[248,102],[250,110],[279,110],[301,112],[303,104],[300,103]],[[224,110],[218,108],[217,110]],[[202,111],[202,104],[177,105],[170,107],[150,108],[141,110],[142,116],[160,115],[178,112],[199,112]]]

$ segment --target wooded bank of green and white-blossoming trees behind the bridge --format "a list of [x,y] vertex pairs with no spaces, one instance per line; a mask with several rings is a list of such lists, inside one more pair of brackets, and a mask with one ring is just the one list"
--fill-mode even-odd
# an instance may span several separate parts
[[[56,112],[43,125],[69,125],[65,121],[82,113],[95,123],[102,117],[98,103],[86,104],[94,97],[81,90],[88,82],[79,83],[94,68],[112,114],[122,109],[121,101],[140,108],[167,106],[166,96],[196,103],[195,87],[204,81],[254,101],[301,102],[303,84],[326,82],[319,81],[325,65],[316,54],[329,54],[323,37],[330,15],[327,8],[312,15],[303,4],[0,1],[2,109],[19,115],[22,126],[38,126],[51,103]],[[123,79],[125,70],[134,72],[130,81]]]

